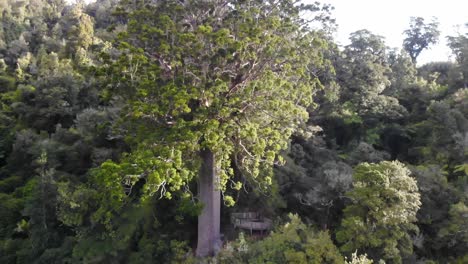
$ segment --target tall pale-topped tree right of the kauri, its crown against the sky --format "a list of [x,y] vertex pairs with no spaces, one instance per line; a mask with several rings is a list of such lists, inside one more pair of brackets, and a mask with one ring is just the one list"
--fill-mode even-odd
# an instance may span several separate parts
[[345,108],[355,111],[362,120],[399,119],[405,110],[398,101],[383,94],[390,86],[386,46],[382,37],[367,30],[350,36],[351,44],[345,47],[344,66],[338,68],[339,78],[346,87],[343,93]]

